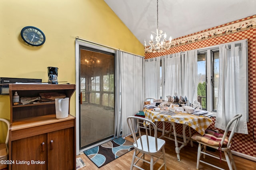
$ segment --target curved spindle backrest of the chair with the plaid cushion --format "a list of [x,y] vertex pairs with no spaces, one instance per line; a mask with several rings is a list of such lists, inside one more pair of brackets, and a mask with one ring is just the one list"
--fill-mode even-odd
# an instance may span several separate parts
[[220,145],[221,145],[221,146],[223,145],[224,140],[225,140],[225,138],[226,138],[226,136],[227,136],[227,134],[228,134],[228,129],[229,129],[230,126],[234,123],[234,126],[232,127],[232,130],[231,130],[230,135],[229,135],[229,137],[228,137],[227,147],[230,147],[230,142],[232,141],[232,137],[234,136],[234,133],[235,133],[235,131],[236,131],[236,127],[237,127],[238,122],[239,122],[239,120],[240,120],[241,117],[242,117],[242,114],[237,114],[237,115],[235,115],[235,116],[228,122],[228,125],[227,125],[227,127],[226,127],[226,129],[225,129],[225,132],[224,132],[224,134],[223,134],[222,140],[221,140],[221,142],[220,142]]

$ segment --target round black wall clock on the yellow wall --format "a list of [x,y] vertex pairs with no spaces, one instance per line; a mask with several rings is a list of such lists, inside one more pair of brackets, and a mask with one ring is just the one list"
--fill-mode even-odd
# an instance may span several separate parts
[[40,46],[45,42],[44,33],[36,27],[24,27],[22,28],[20,35],[26,43],[32,46]]

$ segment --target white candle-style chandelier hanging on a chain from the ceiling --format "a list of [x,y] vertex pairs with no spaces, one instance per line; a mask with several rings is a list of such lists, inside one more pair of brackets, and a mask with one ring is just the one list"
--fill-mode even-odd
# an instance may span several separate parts
[[[152,32],[152,31],[151,31]],[[152,32],[154,33],[154,32]],[[149,45],[146,45],[146,40],[144,41],[145,45],[145,52],[146,53],[156,53],[156,52],[163,52],[165,50],[170,49],[171,47],[171,41],[172,37],[170,37],[169,41],[166,40],[166,33],[163,34],[162,29],[158,29],[158,0],[157,0],[157,28],[156,28],[156,37],[155,40],[156,42],[153,41],[153,35],[151,34],[150,36],[150,41],[148,42]],[[164,39],[162,39],[162,35],[164,35]],[[162,39],[162,40],[161,40]]]

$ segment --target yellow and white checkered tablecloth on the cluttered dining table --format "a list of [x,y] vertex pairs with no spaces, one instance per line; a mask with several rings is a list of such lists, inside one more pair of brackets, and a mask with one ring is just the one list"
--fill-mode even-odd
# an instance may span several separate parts
[[170,121],[185,124],[195,129],[200,135],[204,135],[205,130],[212,123],[212,119],[206,116],[196,116],[188,113],[177,113],[175,115],[166,115],[160,112],[144,109],[145,118],[151,121]]

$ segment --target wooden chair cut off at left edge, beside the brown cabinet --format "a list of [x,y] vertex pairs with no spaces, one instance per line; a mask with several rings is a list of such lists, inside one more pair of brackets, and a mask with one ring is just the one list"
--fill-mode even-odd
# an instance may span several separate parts
[[[2,118],[0,118],[0,121],[6,123],[8,128],[5,143],[0,143],[0,160],[8,160],[8,141],[9,141],[10,123],[8,120],[2,119]],[[0,164],[0,169],[6,168],[6,167],[7,167],[7,164]]]

